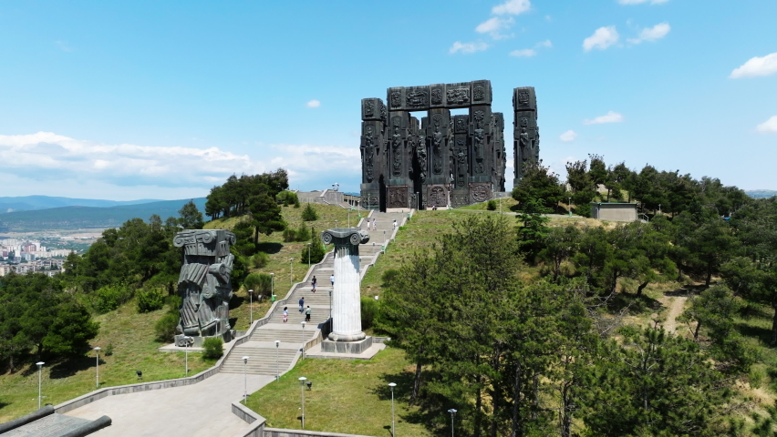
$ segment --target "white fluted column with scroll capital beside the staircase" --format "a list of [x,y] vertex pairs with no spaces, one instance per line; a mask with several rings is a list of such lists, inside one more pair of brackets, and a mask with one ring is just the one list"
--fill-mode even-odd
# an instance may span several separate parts
[[327,229],[325,244],[335,244],[335,287],[332,291],[332,332],[321,343],[321,351],[361,353],[372,345],[372,337],[361,330],[361,293],[358,245],[369,241],[358,228]]

